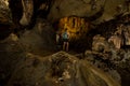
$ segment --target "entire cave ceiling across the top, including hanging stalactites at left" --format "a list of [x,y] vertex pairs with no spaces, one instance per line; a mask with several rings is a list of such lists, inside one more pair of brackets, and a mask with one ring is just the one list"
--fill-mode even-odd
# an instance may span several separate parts
[[1,0],[0,4],[0,24],[12,22],[15,28],[32,28],[38,17],[54,24],[76,16],[100,24],[127,13],[126,0]]

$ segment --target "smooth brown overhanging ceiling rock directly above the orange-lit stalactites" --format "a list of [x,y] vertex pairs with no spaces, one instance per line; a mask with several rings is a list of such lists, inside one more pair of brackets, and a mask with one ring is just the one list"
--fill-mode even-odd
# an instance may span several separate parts
[[73,15],[79,17],[90,17],[101,10],[101,5],[104,4],[104,1],[98,1],[96,3],[99,4],[96,9],[91,10],[92,5],[90,0],[57,0],[53,2],[48,18],[53,23],[62,17]]

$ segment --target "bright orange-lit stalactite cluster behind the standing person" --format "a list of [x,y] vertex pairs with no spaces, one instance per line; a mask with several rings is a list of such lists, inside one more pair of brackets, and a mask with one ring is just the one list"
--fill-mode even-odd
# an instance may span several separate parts
[[58,31],[63,32],[66,28],[72,39],[79,39],[88,32],[88,22],[81,17],[64,17],[60,19]]

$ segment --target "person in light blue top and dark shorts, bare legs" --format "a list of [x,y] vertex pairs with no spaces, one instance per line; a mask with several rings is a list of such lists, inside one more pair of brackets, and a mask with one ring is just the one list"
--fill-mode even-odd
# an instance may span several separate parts
[[68,47],[69,47],[69,32],[68,32],[67,28],[63,32],[62,38],[63,38],[63,51],[68,52]]

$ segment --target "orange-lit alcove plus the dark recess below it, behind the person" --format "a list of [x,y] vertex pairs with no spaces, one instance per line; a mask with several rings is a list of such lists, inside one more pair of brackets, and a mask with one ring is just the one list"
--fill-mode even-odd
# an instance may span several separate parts
[[69,32],[69,49],[82,53],[90,47],[88,46],[90,23],[86,18],[78,16],[63,17],[54,23],[54,28],[58,34],[62,34],[67,28]]

